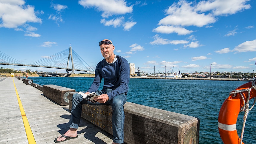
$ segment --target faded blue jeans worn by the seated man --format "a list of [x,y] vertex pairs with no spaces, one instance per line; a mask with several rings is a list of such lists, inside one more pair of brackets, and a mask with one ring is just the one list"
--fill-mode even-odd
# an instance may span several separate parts
[[[98,90],[98,95],[107,94],[113,91],[112,89]],[[89,105],[111,105],[112,113],[112,129],[113,142],[124,143],[124,104],[126,103],[126,94],[119,94],[113,99],[101,104],[99,102],[92,103],[85,99],[80,94],[74,94],[72,98],[71,124],[70,127],[78,129],[82,113],[82,104]]]

